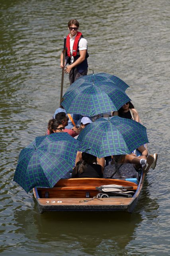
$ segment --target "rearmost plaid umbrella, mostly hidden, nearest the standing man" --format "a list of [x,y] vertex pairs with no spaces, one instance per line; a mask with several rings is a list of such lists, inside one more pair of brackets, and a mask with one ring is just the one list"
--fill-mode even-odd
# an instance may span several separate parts
[[77,86],[80,86],[84,83],[101,84],[104,82],[112,82],[124,91],[129,87],[129,85],[127,85],[123,80],[121,80],[117,76],[113,76],[107,73],[98,73],[80,77],[78,80],[71,84],[69,89],[72,90],[73,88],[77,88]]

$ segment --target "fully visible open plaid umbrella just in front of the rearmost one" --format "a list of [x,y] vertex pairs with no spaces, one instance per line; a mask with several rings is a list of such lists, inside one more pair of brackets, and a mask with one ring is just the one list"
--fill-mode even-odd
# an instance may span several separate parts
[[67,113],[84,116],[119,110],[130,101],[125,91],[112,82],[85,82],[80,86],[70,86],[63,98],[62,106]]

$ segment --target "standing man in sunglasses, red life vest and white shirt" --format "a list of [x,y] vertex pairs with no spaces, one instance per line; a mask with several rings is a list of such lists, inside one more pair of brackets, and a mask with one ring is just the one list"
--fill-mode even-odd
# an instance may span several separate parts
[[[86,76],[88,71],[87,40],[78,32],[77,20],[68,22],[70,33],[66,38],[66,66],[64,73],[69,74],[70,85],[81,76]],[[61,53],[61,68],[63,68],[63,52]]]

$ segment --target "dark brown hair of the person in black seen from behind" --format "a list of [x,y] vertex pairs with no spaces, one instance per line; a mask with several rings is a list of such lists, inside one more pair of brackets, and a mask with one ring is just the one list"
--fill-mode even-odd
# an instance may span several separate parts
[[78,173],[81,174],[82,172],[84,172],[86,164],[93,164],[94,162],[97,164],[96,156],[93,156],[86,152],[82,152],[82,159],[80,161],[78,161],[76,164],[76,165],[78,165]]

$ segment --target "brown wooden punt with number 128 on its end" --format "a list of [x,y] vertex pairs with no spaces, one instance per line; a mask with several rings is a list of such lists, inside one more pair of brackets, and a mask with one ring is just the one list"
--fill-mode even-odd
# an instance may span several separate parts
[[[70,178],[61,179],[53,188],[33,188],[33,194],[40,212],[45,211],[127,211],[132,212],[137,205],[145,173],[141,173],[139,184],[126,180],[114,180],[105,178]],[[135,194],[132,198],[95,198],[99,191],[98,186],[117,184],[131,186]],[[88,197],[88,198],[87,198]]]

